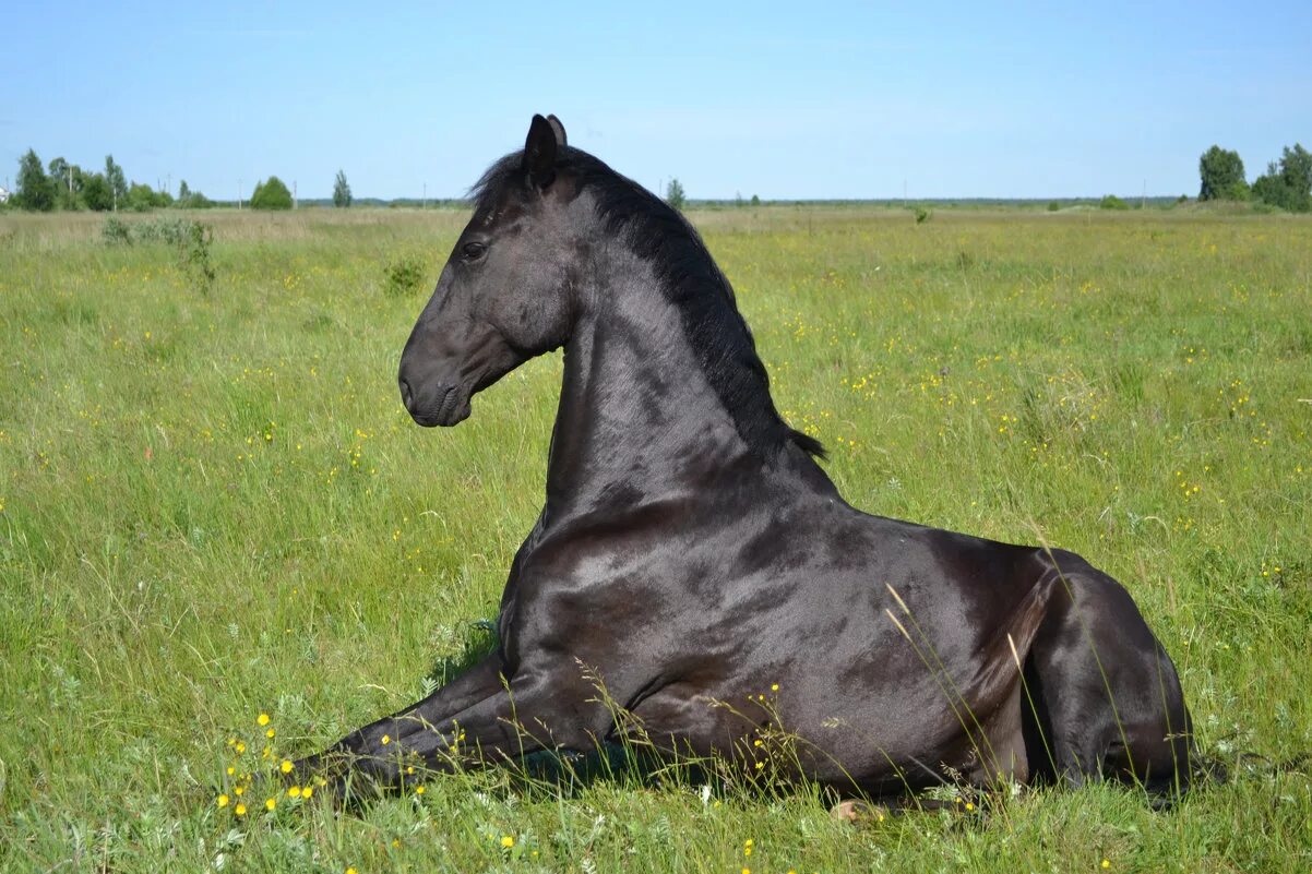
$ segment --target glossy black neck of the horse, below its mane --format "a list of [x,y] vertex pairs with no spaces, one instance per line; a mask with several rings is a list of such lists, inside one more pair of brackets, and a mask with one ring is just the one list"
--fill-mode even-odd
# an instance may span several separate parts
[[749,449],[646,264],[600,283],[592,303],[565,344],[548,516],[687,499],[753,478],[828,483],[796,447],[770,459]]

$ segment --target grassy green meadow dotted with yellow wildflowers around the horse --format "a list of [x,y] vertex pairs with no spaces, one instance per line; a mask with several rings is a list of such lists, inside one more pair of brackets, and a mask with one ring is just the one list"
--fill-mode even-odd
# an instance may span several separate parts
[[[0,870],[1312,870],[1307,770],[1256,765],[1168,812],[1090,786],[858,827],[678,774],[236,795],[488,646],[560,358],[420,429],[396,364],[463,213],[190,218],[213,281],[98,217],[0,215]],[[1208,755],[1312,749],[1312,222],[690,218],[854,505],[1084,554]]]

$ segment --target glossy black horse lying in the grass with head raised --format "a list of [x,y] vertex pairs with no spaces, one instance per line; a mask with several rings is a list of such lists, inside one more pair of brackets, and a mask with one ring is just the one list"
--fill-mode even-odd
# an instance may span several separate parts
[[475,194],[400,392],[420,425],[455,425],[563,346],[542,514],[496,651],[302,769],[387,785],[405,761],[592,751],[640,726],[744,766],[787,732],[794,773],[874,797],[945,774],[1187,785],[1179,680],[1126,589],[1072,552],[848,505],[676,210],[541,115]]

